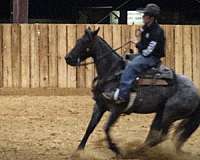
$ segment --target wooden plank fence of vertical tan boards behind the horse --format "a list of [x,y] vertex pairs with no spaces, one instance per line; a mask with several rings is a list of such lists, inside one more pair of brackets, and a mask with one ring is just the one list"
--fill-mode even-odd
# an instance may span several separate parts
[[[0,25],[0,88],[90,88],[93,65],[73,68],[64,56],[87,26],[64,24]],[[99,25],[99,35],[113,48],[135,36],[139,26]],[[166,58],[163,62],[200,87],[200,26],[163,25]],[[129,45],[119,54],[134,48]],[[87,60],[87,61],[90,61]]]

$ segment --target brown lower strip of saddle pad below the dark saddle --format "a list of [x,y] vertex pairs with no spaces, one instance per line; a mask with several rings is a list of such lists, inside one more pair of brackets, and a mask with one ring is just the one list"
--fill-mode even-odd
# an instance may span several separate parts
[[139,79],[137,81],[137,85],[139,86],[167,86],[168,83],[162,79]]

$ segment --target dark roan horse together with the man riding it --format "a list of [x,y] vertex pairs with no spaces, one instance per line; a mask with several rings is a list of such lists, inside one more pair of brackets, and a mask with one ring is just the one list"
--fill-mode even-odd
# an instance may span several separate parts
[[[81,64],[91,57],[95,64],[97,77],[93,81],[92,92],[94,109],[86,132],[78,146],[78,150],[84,149],[88,138],[100,122],[105,112],[110,115],[105,124],[104,131],[108,147],[116,154],[121,151],[111,136],[111,128],[117,122],[121,114],[148,114],[156,113],[151,123],[149,133],[139,149],[153,147],[167,139],[172,124],[181,120],[175,130],[173,142],[177,152],[181,151],[183,144],[191,137],[200,125],[200,96],[192,81],[184,75],[166,69],[165,66],[151,69],[160,63],[160,58],[164,57],[165,38],[164,31],[156,22],[160,9],[155,4],[148,4],[144,10],[144,26],[142,27],[141,41],[137,44],[139,54],[126,66],[119,82],[119,75],[125,67],[124,59],[100,36],[99,29],[92,31],[85,30],[83,36],[77,40],[75,46],[66,54],[66,63],[71,66],[86,65]],[[152,75],[141,72],[152,72]],[[154,73],[155,72],[155,73]],[[140,74],[140,75],[139,75]],[[144,75],[143,75],[144,74]],[[130,88],[135,83],[137,76],[144,82],[145,78],[153,77],[153,83],[138,82],[136,97],[130,94]],[[145,77],[145,78],[143,78]],[[150,80],[152,80],[150,78]],[[160,82],[167,82],[163,85]],[[119,85],[120,84],[120,85]],[[117,92],[110,92],[119,87]],[[104,97],[102,96],[102,93]],[[105,99],[113,100],[108,102]],[[132,98],[133,97],[133,98]],[[121,106],[121,107],[120,107]],[[124,106],[127,106],[124,109]],[[133,124],[134,125],[134,124]]]

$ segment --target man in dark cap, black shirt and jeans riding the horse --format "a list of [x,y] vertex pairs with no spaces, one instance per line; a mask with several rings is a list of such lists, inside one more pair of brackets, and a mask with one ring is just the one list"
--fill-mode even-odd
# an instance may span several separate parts
[[103,96],[116,103],[124,103],[129,100],[129,93],[137,76],[160,62],[160,58],[165,56],[165,36],[164,31],[157,23],[160,14],[160,7],[156,4],[147,4],[144,8],[143,22],[140,29],[141,39],[136,44],[139,51],[138,56],[131,60],[120,80],[119,88],[116,91],[104,92]]

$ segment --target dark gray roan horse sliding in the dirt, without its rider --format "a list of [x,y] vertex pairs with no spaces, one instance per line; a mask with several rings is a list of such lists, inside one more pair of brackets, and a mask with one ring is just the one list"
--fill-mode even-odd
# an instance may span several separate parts
[[109,148],[116,154],[119,155],[120,150],[110,136],[110,129],[120,115],[126,113],[156,113],[143,147],[153,147],[163,142],[172,123],[182,120],[173,138],[176,150],[181,151],[184,142],[200,124],[200,97],[191,80],[175,74],[173,85],[139,86],[136,90],[135,102],[128,111],[124,112],[125,106],[107,101],[102,96],[102,92],[117,88],[119,78],[115,75],[124,69],[125,62],[105,40],[97,35],[98,31],[99,28],[95,31],[86,29],[85,34],[77,40],[75,47],[65,57],[66,63],[71,66],[80,66],[80,62],[92,57],[98,74],[92,89],[96,102],[94,111],[78,150],[84,149],[90,134],[105,111],[110,111],[104,131]]

